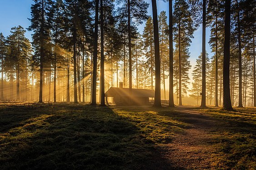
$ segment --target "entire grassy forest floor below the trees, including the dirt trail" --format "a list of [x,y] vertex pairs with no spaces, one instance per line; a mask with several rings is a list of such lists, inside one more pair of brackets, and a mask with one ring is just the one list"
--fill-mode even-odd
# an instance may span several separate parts
[[255,112],[4,103],[0,169],[254,169]]

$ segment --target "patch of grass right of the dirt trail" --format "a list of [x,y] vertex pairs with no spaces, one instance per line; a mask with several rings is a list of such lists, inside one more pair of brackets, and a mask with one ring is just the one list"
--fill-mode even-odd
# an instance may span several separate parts
[[218,153],[214,164],[223,169],[256,169],[256,109],[235,108],[235,112],[210,109],[204,114],[217,120],[213,137]]

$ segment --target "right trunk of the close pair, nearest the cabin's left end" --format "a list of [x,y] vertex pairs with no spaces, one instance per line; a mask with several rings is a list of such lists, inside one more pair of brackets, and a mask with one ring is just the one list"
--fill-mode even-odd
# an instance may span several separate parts
[[100,0],[100,106],[105,106],[103,0]]

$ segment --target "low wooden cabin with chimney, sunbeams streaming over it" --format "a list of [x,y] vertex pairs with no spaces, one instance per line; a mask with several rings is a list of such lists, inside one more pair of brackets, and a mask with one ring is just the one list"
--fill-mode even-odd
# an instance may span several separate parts
[[133,105],[145,105],[149,104],[149,97],[155,97],[155,90],[132,88],[130,95],[129,88],[123,88],[120,82],[120,87],[110,87],[105,92],[105,97],[113,97],[113,103],[116,105],[128,105],[130,99]]

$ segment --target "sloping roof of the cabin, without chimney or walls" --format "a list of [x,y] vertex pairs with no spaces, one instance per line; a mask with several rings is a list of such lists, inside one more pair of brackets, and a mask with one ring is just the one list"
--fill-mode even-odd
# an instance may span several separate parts
[[[129,88],[110,87],[110,89],[107,92],[105,92],[105,97],[115,97],[116,95],[119,95],[122,97],[128,97]],[[133,88],[132,96],[133,97],[155,97],[155,90]]]

